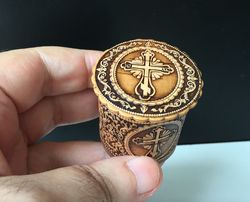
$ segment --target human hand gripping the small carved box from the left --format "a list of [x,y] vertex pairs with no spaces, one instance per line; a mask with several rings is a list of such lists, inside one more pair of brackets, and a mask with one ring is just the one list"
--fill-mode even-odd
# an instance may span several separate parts
[[39,47],[0,54],[1,201],[144,201],[159,186],[148,157],[107,158],[100,143],[37,141],[97,117],[98,51]]

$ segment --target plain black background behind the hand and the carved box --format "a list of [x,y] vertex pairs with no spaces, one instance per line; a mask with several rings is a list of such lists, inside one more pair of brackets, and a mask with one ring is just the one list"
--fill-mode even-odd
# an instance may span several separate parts
[[[59,45],[105,50],[135,38],[168,42],[196,61],[205,81],[180,143],[249,140],[247,2],[0,0],[0,49]],[[97,138],[97,120],[60,127],[46,137]]]

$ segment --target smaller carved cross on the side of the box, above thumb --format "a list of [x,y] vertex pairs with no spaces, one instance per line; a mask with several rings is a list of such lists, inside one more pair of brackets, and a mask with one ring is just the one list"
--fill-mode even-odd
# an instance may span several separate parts
[[177,132],[176,129],[166,130],[163,126],[157,127],[151,133],[144,137],[136,137],[132,141],[145,149],[148,149],[146,155],[151,154],[152,157],[159,157],[162,155],[162,146],[167,143],[169,138]]

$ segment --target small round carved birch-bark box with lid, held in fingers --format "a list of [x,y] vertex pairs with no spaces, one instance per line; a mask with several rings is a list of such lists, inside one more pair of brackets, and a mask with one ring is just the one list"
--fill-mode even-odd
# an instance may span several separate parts
[[159,163],[174,151],[203,87],[201,72],[185,53],[146,39],[105,51],[92,82],[106,151],[111,156],[146,155]]

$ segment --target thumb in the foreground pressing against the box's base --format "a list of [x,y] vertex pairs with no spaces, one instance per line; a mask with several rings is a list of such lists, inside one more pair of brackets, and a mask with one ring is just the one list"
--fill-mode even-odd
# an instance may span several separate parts
[[[158,163],[149,157],[123,156],[89,166],[78,165],[5,178],[12,178],[8,188],[18,189],[19,195],[24,191],[25,197],[32,197],[32,200],[26,198],[24,201],[137,202],[153,194],[161,182],[162,172]],[[0,180],[0,188],[4,184]],[[18,188],[13,189],[13,186]],[[10,195],[11,191],[7,190],[6,193]],[[15,199],[13,196],[9,198]]]

